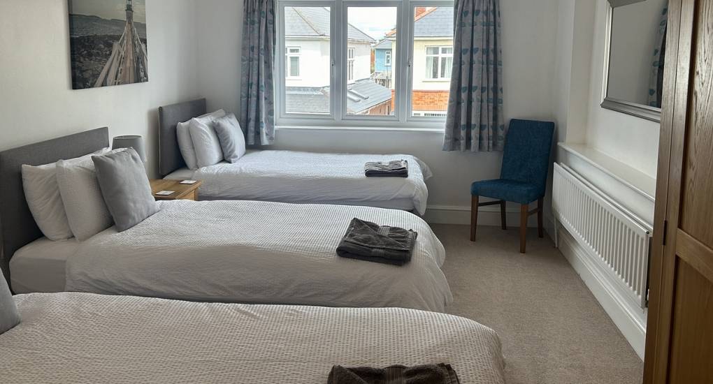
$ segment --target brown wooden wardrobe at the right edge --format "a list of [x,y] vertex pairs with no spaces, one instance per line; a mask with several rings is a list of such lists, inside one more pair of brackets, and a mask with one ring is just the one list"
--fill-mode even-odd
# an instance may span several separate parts
[[644,383],[713,383],[713,0],[670,0]]

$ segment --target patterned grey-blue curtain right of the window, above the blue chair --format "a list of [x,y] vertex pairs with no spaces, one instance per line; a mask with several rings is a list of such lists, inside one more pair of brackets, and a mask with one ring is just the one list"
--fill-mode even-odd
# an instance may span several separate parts
[[453,11],[453,72],[443,150],[503,150],[500,0],[456,0]]

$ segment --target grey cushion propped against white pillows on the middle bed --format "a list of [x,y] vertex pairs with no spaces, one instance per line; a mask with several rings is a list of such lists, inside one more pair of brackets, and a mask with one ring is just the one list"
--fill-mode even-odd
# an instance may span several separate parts
[[118,232],[158,212],[143,162],[133,148],[92,156],[92,160],[101,194]]

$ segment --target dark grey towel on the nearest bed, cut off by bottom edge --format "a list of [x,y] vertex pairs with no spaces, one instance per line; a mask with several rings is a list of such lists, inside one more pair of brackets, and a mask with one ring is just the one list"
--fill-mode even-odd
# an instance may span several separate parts
[[334,365],[327,378],[328,384],[459,384],[458,375],[448,364],[386,368],[344,368]]

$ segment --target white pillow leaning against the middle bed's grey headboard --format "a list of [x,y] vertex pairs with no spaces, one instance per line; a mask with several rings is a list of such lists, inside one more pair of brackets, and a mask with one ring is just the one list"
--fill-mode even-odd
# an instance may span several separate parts
[[[109,148],[103,148],[65,162],[76,164],[91,159],[93,155],[106,152],[109,152]],[[25,199],[32,217],[46,238],[64,240],[73,236],[62,204],[62,197],[59,194],[56,162],[39,166],[22,165],[22,187],[25,190]]]

